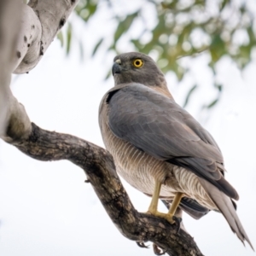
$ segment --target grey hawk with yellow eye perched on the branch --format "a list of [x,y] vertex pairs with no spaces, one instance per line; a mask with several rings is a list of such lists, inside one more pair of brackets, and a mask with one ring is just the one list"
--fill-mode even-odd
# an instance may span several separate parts
[[[119,172],[131,186],[152,196],[148,212],[174,222],[177,207],[194,218],[221,212],[231,230],[249,241],[236,214],[239,196],[224,178],[218,144],[173,99],[164,74],[142,53],[117,55],[114,87],[102,98],[102,139]],[[172,201],[168,213],[158,201]]]

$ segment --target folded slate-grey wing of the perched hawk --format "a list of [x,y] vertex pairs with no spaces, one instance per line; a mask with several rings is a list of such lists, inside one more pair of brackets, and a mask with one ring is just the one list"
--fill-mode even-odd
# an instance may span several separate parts
[[217,143],[172,99],[143,84],[129,84],[112,91],[107,102],[108,125],[115,136],[156,159],[186,167],[238,199],[221,173],[223,156]]

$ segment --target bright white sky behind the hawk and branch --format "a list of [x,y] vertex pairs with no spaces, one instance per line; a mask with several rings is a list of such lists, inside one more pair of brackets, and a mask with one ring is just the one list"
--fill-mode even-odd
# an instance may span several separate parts
[[[77,35],[84,38],[85,61],[79,61],[77,44],[67,58],[55,40],[32,72],[14,79],[12,90],[32,122],[41,128],[69,133],[103,147],[97,112],[102,96],[113,86],[113,79],[103,78],[114,55],[106,55],[101,49],[91,60],[89,53],[102,32],[113,31],[113,21],[104,31],[101,24],[91,22],[84,27],[82,22],[73,21]],[[218,79],[224,83],[224,92],[218,106],[207,113],[199,111],[201,102],[212,99],[207,55],[183,62],[192,69],[189,77],[177,84],[172,74],[167,75],[169,89],[183,104],[191,80],[200,84],[187,110],[203,122],[218,142],[228,170],[226,178],[240,195],[238,216],[256,247],[255,58],[242,76],[234,63],[221,61]],[[84,179],[83,170],[66,160],[32,160],[0,141],[0,255],[154,255],[152,247],[137,247],[119,233]],[[137,210],[146,212],[150,199],[129,184],[124,185]],[[166,211],[163,206],[160,210]],[[255,255],[248,245],[243,247],[217,212],[200,220],[184,214],[183,223],[207,256]]]

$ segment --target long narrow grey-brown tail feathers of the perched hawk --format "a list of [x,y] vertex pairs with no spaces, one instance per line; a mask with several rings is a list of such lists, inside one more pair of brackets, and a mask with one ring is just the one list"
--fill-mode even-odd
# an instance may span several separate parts
[[249,240],[246,231],[241,225],[241,222],[236,214],[236,209],[233,206],[230,197],[224,195],[223,192],[213,186],[212,183],[207,182],[207,180],[201,177],[199,179],[201,185],[207,191],[207,194],[211,197],[214,204],[218,207],[218,210],[222,212],[224,218],[226,218],[227,222],[230,224],[231,230],[236,233],[236,236],[241,240],[243,244],[244,241],[247,241],[254,251],[253,245]]

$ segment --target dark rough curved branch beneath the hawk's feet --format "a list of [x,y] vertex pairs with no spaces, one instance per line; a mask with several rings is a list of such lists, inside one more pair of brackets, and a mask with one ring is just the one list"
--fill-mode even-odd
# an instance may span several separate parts
[[137,212],[107,150],[78,137],[45,131],[33,123],[30,135],[12,144],[37,160],[70,160],[80,166],[113,224],[128,239],[140,243],[152,241],[169,255],[202,255],[189,234],[183,230],[177,233],[176,225],[169,224],[163,218]]

